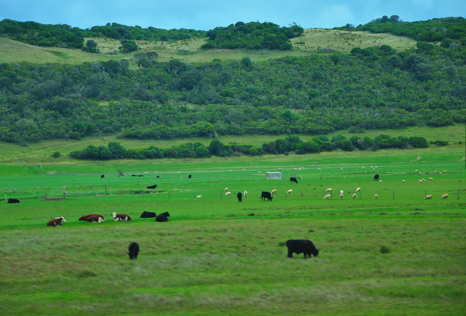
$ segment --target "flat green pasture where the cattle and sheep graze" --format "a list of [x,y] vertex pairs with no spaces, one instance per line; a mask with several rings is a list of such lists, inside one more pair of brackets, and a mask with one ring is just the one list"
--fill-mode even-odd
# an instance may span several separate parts
[[[448,135],[457,140],[457,132]],[[283,180],[258,175],[279,167]],[[1,314],[465,315],[465,172],[459,144],[143,163],[3,162],[0,189],[21,202],[1,196]],[[298,183],[290,183],[295,174]],[[146,189],[152,184],[157,190]],[[333,199],[324,200],[328,187]],[[272,189],[273,200],[261,201],[260,192]],[[241,203],[239,191],[248,191]],[[157,223],[140,219],[143,211],[171,217]],[[105,222],[78,221],[93,212]],[[111,212],[132,221],[114,222]],[[62,227],[46,227],[60,216]],[[291,238],[311,239],[319,255],[287,258]],[[133,261],[126,254],[132,241],[141,247]]]

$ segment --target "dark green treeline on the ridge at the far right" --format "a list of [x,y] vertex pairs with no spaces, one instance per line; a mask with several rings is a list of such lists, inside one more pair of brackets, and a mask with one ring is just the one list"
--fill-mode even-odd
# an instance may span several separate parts
[[384,15],[382,18],[372,20],[364,25],[360,24],[354,27],[354,25],[346,24],[346,26],[335,29],[390,33],[424,42],[442,42],[449,39],[450,41],[447,40],[446,42],[450,44],[452,43],[451,40],[466,41],[466,19],[463,17],[444,17],[427,21],[403,22],[398,15],[391,15],[390,17]]

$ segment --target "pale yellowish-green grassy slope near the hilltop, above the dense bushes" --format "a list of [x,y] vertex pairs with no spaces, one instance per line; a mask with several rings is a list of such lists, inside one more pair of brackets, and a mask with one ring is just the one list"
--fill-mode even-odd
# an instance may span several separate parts
[[[30,62],[30,63],[64,63],[82,64],[83,62],[108,61],[132,59],[133,55],[118,53],[117,55],[105,55],[105,53],[117,51],[121,46],[119,40],[104,38],[85,38],[94,40],[100,48],[100,54],[90,54],[81,50],[38,47],[12,41],[0,37],[0,63]],[[206,39],[191,38],[178,42],[150,42],[136,41],[142,52],[157,52],[160,62],[170,59],[178,59],[183,62],[210,62],[215,58],[221,60],[240,60],[249,57],[252,61],[263,61],[280,58],[283,56],[307,56],[310,53],[318,53],[319,49],[330,48],[336,52],[348,53],[354,47],[366,48],[375,45],[390,45],[394,49],[404,50],[415,47],[416,42],[406,37],[393,36],[391,34],[371,34],[369,32],[345,32],[327,29],[306,29],[304,36],[292,39],[295,49],[289,51],[245,51],[245,50],[200,50]],[[299,44],[297,44],[299,43]],[[180,52],[185,50],[188,52]],[[132,67],[137,67],[132,64]]]

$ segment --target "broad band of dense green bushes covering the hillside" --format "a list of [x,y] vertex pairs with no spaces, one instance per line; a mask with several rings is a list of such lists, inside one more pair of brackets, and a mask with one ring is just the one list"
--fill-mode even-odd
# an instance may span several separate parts
[[[3,63],[0,140],[318,135],[451,125],[466,115],[464,38],[451,43],[418,42],[407,51],[355,47],[350,54],[329,50],[262,62],[157,62],[154,52],[151,60],[137,53],[81,65]],[[145,61],[141,69],[130,68],[138,58]]]

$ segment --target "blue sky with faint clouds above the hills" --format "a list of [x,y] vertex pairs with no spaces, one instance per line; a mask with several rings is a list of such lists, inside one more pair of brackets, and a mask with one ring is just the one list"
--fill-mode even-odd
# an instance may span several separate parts
[[332,28],[394,14],[407,22],[465,17],[466,0],[0,0],[0,20],[82,29],[116,22],[207,31],[237,21]]

